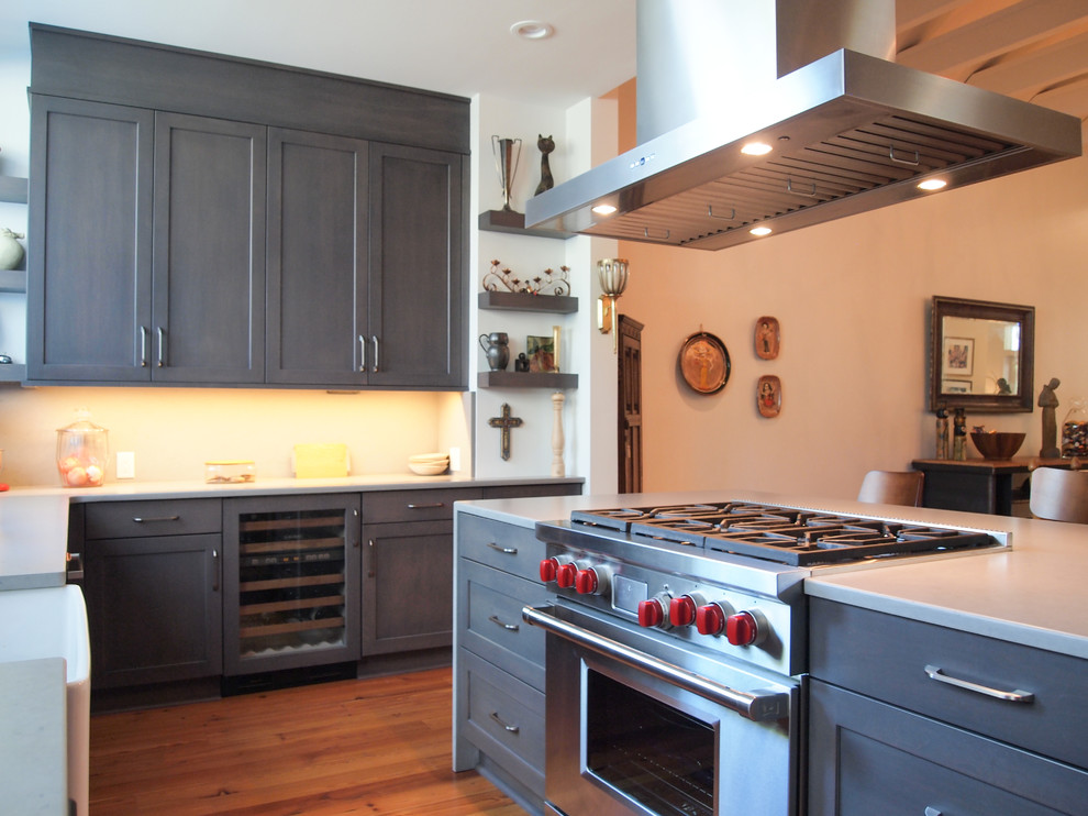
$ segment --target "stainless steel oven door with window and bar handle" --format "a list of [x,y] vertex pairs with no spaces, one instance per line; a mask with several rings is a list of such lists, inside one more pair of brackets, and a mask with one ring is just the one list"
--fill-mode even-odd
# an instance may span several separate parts
[[590,609],[523,617],[547,631],[549,813],[796,813],[796,682]]

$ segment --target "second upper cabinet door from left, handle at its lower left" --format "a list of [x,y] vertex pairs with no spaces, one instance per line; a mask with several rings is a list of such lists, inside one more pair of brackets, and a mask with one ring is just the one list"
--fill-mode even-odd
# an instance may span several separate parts
[[265,140],[262,125],[155,117],[155,381],[264,381]]

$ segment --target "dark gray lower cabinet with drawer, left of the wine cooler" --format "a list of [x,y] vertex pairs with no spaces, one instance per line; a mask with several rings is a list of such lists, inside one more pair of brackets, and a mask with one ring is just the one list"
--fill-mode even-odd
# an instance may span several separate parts
[[101,503],[86,514],[92,690],[218,677],[219,500]]

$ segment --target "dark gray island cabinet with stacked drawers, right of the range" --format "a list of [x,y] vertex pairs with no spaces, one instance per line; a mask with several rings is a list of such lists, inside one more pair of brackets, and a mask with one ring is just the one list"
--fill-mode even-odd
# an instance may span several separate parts
[[811,613],[810,816],[1085,813],[1084,661],[822,599]]

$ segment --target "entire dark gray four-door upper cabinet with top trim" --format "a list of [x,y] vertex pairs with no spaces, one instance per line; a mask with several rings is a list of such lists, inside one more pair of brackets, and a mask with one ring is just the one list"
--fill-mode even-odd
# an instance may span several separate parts
[[467,386],[468,100],[31,41],[29,381]]

